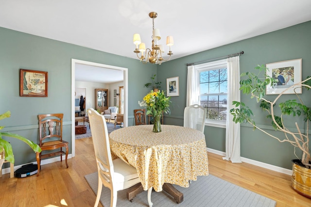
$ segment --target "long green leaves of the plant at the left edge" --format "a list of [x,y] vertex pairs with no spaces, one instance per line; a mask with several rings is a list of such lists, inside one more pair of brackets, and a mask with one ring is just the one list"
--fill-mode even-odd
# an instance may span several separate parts
[[[0,120],[2,119],[5,119],[5,118],[8,118],[11,116],[11,112],[10,111],[6,111],[5,113],[1,114],[0,115]],[[0,130],[2,130],[4,127],[0,126]],[[15,139],[18,139],[24,143],[27,143],[35,152],[41,152],[41,148],[39,147],[39,145],[37,145],[36,143],[28,140],[27,138],[25,137],[22,137],[18,134],[13,134],[13,133],[9,133],[9,132],[1,132],[0,131],[0,147],[2,146],[4,148],[4,151],[5,151],[5,159],[8,160],[9,162],[11,163],[14,163],[14,155],[13,155],[13,149],[12,149],[12,145],[2,139],[2,137],[5,136],[5,137],[12,137],[12,138],[15,138]]]

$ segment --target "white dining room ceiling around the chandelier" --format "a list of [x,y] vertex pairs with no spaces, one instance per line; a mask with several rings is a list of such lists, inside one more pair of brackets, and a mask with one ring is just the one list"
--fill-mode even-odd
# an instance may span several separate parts
[[0,0],[0,27],[136,59],[133,34],[151,47],[154,11],[176,59],[309,21],[310,10],[311,0]]

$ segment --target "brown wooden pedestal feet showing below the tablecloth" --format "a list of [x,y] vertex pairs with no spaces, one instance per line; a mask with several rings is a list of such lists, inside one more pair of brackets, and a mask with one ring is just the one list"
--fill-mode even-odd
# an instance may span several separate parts
[[[184,201],[184,194],[177,189],[174,188],[174,186],[171,183],[164,183],[162,186],[163,191],[167,192],[170,194],[174,200],[176,201],[177,204],[180,204],[181,202]],[[126,192],[126,197],[128,200],[133,202],[133,198],[139,193],[141,193],[143,190],[141,183],[138,183],[131,188],[128,189]]]

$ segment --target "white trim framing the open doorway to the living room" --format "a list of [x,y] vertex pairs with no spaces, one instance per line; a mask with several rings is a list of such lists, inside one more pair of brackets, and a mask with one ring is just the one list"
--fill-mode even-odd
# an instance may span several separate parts
[[124,122],[123,126],[127,127],[128,123],[128,99],[126,97],[128,94],[128,68],[125,67],[118,67],[118,66],[113,66],[113,65],[106,65],[106,64],[99,64],[99,63],[93,63],[93,62],[88,62],[88,61],[82,61],[82,60],[76,60],[76,59],[71,59],[71,155],[72,157],[75,156],[75,111],[74,111],[74,105],[75,105],[75,100],[74,100],[74,92],[75,92],[75,67],[76,64],[85,64],[85,65],[91,65],[91,66],[97,66],[97,67],[102,67],[105,69],[111,69],[111,70],[121,70],[123,71],[123,116],[124,116]]

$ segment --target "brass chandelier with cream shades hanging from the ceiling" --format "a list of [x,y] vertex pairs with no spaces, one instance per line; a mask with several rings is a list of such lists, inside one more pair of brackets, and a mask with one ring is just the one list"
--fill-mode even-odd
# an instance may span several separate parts
[[[150,18],[152,18],[152,47],[146,49],[146,44],[142,43],[140,40],[140,35],[138,33],[134,34],[133,42],[136,45],[136,49],[134,52],[137,54],[137,57],[140,61],[144,64],[152,63],[152,64],[161,64],[162,61],[168,61],[171,59],[171,55],[173,52],[171,50],[171,46],[174,45],[173,36],[167,36],[166,38],[166,45],[170,47],[169,53],[167,53],[170,57],[169,59],[165,60],[162,58],[162,53],[164,52],[163,46],[159,45],[158,41],[161,39],[160,30],[155,29],[155,18],[157,17],[156,12],[149,13]],[[139,47],[138,47],[139,45]],[[138,56],[138,53],[141,53],[141,56]],[[144,56],[145,53],[145,56]],[[144,61],[146,59],[146,61]]]

